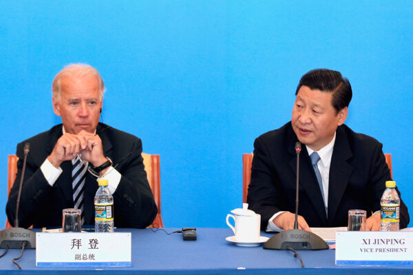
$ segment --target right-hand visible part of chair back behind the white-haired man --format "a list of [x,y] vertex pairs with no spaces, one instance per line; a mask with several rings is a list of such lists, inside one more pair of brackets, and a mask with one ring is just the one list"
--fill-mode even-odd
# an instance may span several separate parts
[[158,214],[156,214],[153,223],[148,228],[163,228],[162,215],[160,211],[160,161],[159,155],[149,155],[142,153],[143,164],[147,173],[149,186],[151,186],[153,199],[158,206]]

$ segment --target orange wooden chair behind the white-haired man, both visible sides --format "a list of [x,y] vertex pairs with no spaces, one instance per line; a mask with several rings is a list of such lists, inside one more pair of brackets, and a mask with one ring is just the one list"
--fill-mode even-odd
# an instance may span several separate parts
[[[145,165],[145,171],[147,173],[149,186],[153,193],[153,198],[155,199],[156,206],[158,206],[158,214],[155,220],[148,228],[156,227],[163,228],[162,216],[160,214],[160,162],[159,155],[149,155],[142,153],[143,164]],[[17,174],[17,160],[19,157],[17,155],[8,155],[8,190],[7,195],[10,194],[10,189],[14,184]],[[12,228],[8,219],[6,218],[5,228]]]

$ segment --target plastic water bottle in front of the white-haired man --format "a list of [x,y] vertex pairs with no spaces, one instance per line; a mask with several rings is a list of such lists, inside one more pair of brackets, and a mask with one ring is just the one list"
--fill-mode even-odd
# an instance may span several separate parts
[[95,232],[114,232],[114,197],[107,188],[107,179],[98,180],[95,195]]

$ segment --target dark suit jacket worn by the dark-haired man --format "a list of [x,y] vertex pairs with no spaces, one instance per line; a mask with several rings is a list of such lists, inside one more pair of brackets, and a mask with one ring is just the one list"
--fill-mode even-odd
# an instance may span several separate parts
[[[263,229],[276,212],[295,212],[297,141],[290,122],[255,140],[247,201],[249,208],[261,214]],[[382,144],[368,135],[354,133],[346,125],[339,126],[330,164],[327,218],[317,177],[304,144],[299,165],[298,214],[310,227],[347,226],[350,209],[367,210],[370,217],[372,212],[380,210],[385,181],[391,180]],[[401,228],[408,223],[409,213],[401,201]]]

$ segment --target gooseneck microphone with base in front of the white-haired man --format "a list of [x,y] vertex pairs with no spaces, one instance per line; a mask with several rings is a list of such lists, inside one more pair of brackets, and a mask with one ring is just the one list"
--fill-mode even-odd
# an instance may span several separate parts
[[23,178],[25,173],[26,160],[30,152],[30,144],[24,145],[23,169],[21,170],[21,178],[19,183],[19,193],[16,201],[16,219],[14,220],[14,228],[1,230],[0,232],[0,248],[36,248],[36,234],[25,228],[19,228],[19,206],[21,188],[23,186]]

